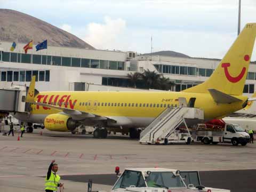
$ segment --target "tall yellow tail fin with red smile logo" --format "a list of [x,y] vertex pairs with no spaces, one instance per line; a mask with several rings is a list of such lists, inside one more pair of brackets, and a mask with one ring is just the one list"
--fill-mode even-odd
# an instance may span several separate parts
[[226,94],[242,95],[255,36],[256,23],[247,23],[209,79],[183,92],[209,93],[209,89],[215,89]]

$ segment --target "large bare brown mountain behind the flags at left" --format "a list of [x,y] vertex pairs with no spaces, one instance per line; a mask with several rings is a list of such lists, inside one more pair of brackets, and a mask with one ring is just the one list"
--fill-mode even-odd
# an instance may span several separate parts
[[82,39],[45,21],[19,11],[0,9],[0,41],[34,44],[47,39],[49,46],[95,49]]

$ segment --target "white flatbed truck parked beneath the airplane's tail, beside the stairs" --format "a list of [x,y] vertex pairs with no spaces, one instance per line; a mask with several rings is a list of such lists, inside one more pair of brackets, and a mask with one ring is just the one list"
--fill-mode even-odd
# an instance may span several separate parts
[[237,146],[245,146],[250,141],[250,135],[238,124],[223,123],[215,124],[198,124],[196,131],[191,133],[194,141],[201,141],[204,144],[218,144],[219,142],[232,143]]

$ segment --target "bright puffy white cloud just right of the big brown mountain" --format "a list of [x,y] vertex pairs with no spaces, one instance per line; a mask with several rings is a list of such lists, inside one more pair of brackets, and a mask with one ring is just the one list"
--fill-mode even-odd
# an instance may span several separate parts
[[125,30],[125,20],[105,17],[103,23],[89,23],[82,39],[97,49],[117,49]]

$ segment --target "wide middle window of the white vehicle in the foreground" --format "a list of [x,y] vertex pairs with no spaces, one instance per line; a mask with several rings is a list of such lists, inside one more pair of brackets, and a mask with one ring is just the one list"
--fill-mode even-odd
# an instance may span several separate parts
[[186,187],[180,176],[175,176],[173,172],[151,172],[146,181],[148,187]]

